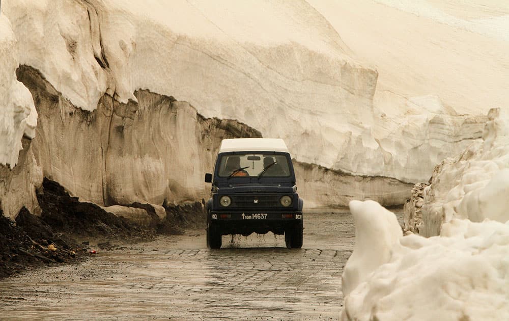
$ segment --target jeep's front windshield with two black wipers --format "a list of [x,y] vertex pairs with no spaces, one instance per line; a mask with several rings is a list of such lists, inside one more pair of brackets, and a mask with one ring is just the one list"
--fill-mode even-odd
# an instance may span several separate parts
[[281,154],[223,155],[219,161],[219,177],[289,177],[288,158]]

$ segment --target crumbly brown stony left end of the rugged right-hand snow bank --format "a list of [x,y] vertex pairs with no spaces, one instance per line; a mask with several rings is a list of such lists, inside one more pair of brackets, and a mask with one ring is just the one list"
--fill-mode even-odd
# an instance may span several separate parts
[[430,183],[416,183],[412,188],[412,196],[403,206],[403,232],[406,234],[419,233],[422,226],[421,208],[424,205],[424,191]]

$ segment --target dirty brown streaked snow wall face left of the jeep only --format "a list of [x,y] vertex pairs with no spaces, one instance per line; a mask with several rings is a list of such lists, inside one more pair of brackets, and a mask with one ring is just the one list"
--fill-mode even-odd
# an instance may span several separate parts
[[[200,200],[208,195],[203,177],[220,140],[261,136],[237,121],[206,119],[187,102],[147,90],[136,91],[138,102],[127,104],[104,95],[88,112],[62,97],[37,70],[21,66],[18,77],[31,90],[39,114],[36,138],[24,153],[33,154],[30,162],[43,176],[99,205]],[[19,167],[28,167],[21,161]]]

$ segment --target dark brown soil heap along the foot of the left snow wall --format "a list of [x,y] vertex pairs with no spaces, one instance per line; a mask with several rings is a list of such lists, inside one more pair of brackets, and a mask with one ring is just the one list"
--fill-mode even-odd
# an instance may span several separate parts
[[139,226],[106,212],[93,203],[79,202],[57,182],[44,178],[37,192],[40,217],[22,208],[12,222],[0,210],[0,279],[41,265],[65,264],[94,255],[96,249],[150,240],[158,234],[183,234],[184,228],[205,226],[201,203],[164,206],[166,220],[157,218],[150,204],[133,203],[154,218]]

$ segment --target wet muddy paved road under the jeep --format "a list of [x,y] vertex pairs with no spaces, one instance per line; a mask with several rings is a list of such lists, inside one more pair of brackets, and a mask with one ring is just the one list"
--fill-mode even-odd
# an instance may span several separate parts
[[0,281],[1,319],[337,319],[355,238],[347,211],[307,212],[302,249],[284,236],[204,230],[114,245],[84,262]]

